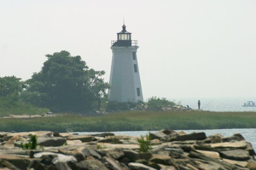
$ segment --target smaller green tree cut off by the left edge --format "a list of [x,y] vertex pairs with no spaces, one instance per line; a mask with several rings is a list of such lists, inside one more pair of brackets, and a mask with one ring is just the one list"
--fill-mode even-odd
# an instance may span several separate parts
[[18,100],[23,88],[24,85],[20,78],[14,76],[0,78],[0,97]]

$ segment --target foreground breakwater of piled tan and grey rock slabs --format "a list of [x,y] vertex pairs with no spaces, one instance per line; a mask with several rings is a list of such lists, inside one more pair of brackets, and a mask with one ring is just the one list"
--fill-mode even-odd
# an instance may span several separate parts
[[[22,149],[24,143],[31,143],[31,135],[37,137],[37,148]],[[138,138],[113,133],[0,132],[0,169],[256,169],[256,159],[241,134],[206,137],[203,132],[161,130]]]

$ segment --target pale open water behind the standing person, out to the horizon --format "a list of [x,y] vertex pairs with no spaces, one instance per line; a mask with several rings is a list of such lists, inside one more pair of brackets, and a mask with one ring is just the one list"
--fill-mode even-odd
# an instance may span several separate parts
[[[172,101],[172,99],[169,99]],[[189,105],[191,108],[197,108],[197,101],[201,101],[201,108],[205,111],[213,112],[256,112],[256,107],[242,107],[248,100],[256,101],[255,97],[251,98],[198,98],[175,99],[175,103],[181,103],[183,106]]]

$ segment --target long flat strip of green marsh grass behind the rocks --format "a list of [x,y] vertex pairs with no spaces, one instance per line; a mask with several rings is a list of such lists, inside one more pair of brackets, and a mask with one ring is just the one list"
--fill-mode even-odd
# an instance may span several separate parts
[[256,112],[118,112],[31,119],[0,118],[0,131],[106,132],[256,128]]

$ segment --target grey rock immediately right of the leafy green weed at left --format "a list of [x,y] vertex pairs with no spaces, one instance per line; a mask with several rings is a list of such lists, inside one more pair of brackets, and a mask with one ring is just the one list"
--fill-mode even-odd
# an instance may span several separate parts
[[37,139],[38,145],[44,146],[44,147],[58,147],[62,146],[65,142],[65,138],[38,138]]

